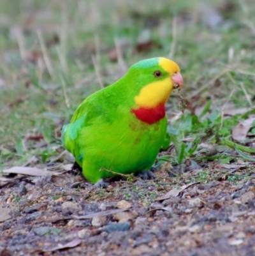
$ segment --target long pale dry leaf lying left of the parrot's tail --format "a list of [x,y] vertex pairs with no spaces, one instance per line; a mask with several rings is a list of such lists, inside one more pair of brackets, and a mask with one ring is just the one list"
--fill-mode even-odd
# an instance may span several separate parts
[[49,170],[40,169],[36,167],[11,167],[10,169],[2,170],[6,174],[25,174],[31,176],[45,176],[47,174],[59,175],[58,172],[50,172]]

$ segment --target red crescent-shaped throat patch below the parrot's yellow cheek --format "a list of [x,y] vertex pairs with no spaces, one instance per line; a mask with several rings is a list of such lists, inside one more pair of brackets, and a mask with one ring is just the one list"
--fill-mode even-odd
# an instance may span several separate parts
[[139,107],[138,109],[132,109],[131,112],[135,114],[139,120],[147,124],[154,124],[166,116],[164,104],[157,105],[157,107],[151,109]]

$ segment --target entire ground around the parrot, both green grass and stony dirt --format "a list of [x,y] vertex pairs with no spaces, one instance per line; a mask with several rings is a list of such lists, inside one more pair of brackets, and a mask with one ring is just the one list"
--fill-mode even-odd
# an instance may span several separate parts
[[[1,0],[0,256],[254,256],[254,39],[254,0]],[[61,128],[157,56],[186,109],[166,103],[156,179],[94,188]]]

